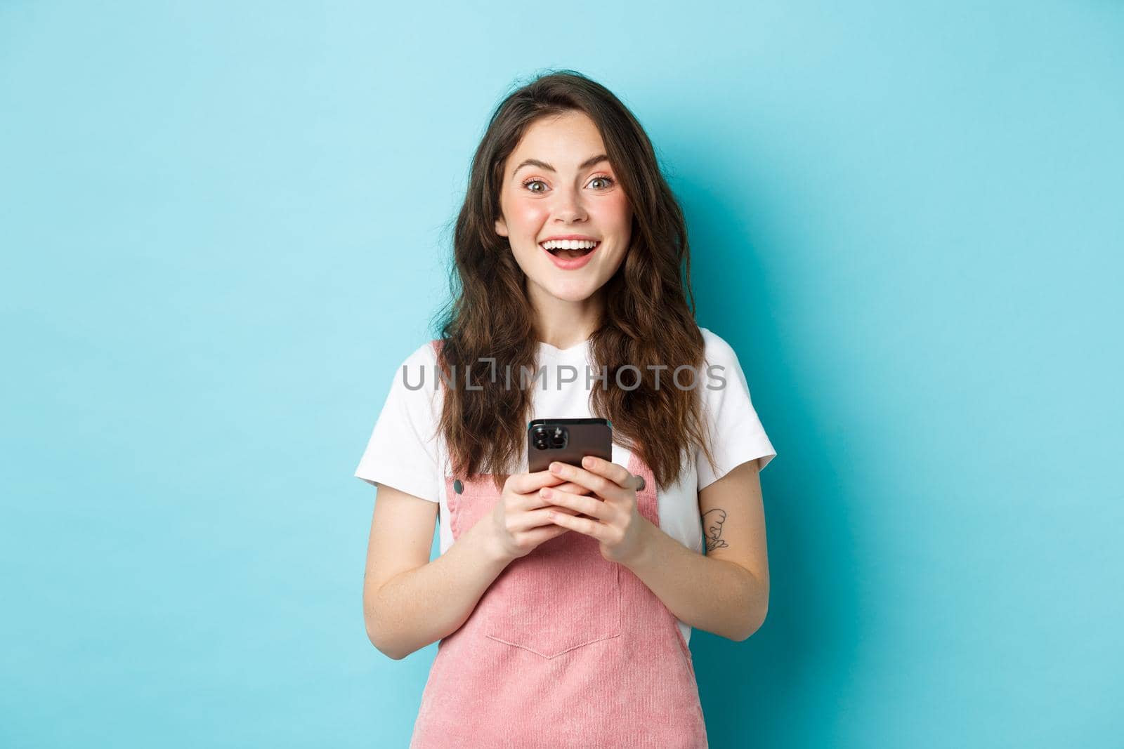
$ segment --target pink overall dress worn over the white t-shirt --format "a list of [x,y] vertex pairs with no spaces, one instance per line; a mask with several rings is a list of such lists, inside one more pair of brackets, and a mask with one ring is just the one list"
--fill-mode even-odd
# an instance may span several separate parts
[[[656,485],[640,513],[660,524]],[[454,541],[495,508],[490,475],[447,476]],[[486,520],[487,522],[487,520]],[[707,747],[691,652],[671,611],[596,539],[566,531],[511,561],[437,645],[411,749]]]

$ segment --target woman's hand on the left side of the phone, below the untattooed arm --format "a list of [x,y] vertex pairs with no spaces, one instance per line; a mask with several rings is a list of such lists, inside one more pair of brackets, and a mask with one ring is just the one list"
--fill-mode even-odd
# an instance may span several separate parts
[[492,510],[491,529],[505,559],[524,557],[535,548],[570,530],[546,519],[549,512],[580,514],[569,508],[550,504],[538,495],[544,486],[558,486],[571,494],[589,494],[589,490],[572,482],[564,482],[550,471],[511,474],[504,483],[496,508]]

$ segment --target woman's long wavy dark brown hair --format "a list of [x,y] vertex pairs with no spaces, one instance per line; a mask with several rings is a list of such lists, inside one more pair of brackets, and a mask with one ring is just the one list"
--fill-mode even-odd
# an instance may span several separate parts
[[[597,373],[607,366],[609,386],[595,381],[590,412],[609,419],[614,441],[637,454],[656,483],[667,487],[683,460],[694,459],[694,446],[714,464],[704,437],[703,385],[697,380],[694,387],[681,390],[669,382],[681,365],[694,367],[698,378],[704,363],[687,227],[643,127],[608,89],[575,71],[538,75],[509,93],[492,112],[472,158],[453,236],[450,300],[436,316],[441,376],[456,378],[455,387],[444,386],[438,429],[454,472],[468,477],[491,474],[497,490],[526,450],[534,385],[509,387],[496,372],[516,373],[514,381],[524,368],[534,372],[540,337],[526,276],[495,223],[504,164],[524,133],[540,118],[573,110],[597,125],[633,210],[624,261],[597,292],[605,294],[605,314],[590,350]],[[498,369],[481,363],[484,358],[495,359]],[[628,364],[640,369],[634,390],[616,386],[617,371]],[[659,389],[649,365],[668,366]],[[632,369],[620,377],[626,385],[636,380]]]

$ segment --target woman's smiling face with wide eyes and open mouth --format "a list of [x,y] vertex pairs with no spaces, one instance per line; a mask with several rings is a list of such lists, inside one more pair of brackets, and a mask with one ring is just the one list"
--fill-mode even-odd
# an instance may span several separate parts
[[[508,238],[535,301],[589,299],[628,248],[632,208],[584,112],[544,117],[527,128],[504,164],[499,204],[496,232]],[[552,237],[570,236],[597,245],[553,253],[543,247]]]

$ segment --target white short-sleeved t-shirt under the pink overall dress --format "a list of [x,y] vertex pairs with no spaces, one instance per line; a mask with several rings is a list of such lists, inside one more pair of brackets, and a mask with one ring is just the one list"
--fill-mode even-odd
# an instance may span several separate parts
[[[706,344],[706,363],[698,373],[696,386],[704,394],[704,418],[711,430],[711,451],[718,471],[714,472],[706,455],[696,449],[695,459],[685,462],[679,479],[667,490],[658,490],[656,499],[660,529],[701,554],[699,491],[747,460],[761,458],[760,467],[763,469],[777,451],[758,419],[734,349],[706,328],[700,327],[699,330]],[[587,364],[591,373],[588,386]],[[590,390],[604,385],[593,378],[599,371],[592,366],[588,340],[566,349],[540,342],[538,367],[542,368],[542,376],[533,382],[533,413],[529,419],[593,415],[589,411]],[[395,372],[390,393],[355,476],[370,484],[386,484],[437,502],[441,552],[444,554],[453,544],[444,495],[445,478],[452,476],[452,471],[444,437],[436,433],[444,398],[444,384],[437,385],[438,372],[436,353],[429,341],[402,362],[402,366]],[[669,380],[671,374],[670,369],[660,372],[661,387],[674,386]],[[502,381],[504,374],[498,376]],[[513,372],[513,386],[517,386],[517,382],[518,374]],[[633,382],[633,375],[622,375],[625,386],[631,386]],[[690,383],[687,374],[681,374],[679,382],[685,387]],[[463,380],[459,383],[463,386]],[[613,384],[611,378],[609,384]],[[613,445],[614,463],[627,466],[631,457],[626,448]],[[520,471],[527,471],[526,455],[523,456]],[[678,623],[683,639],[689,640],[690,625],[682,621]]]

